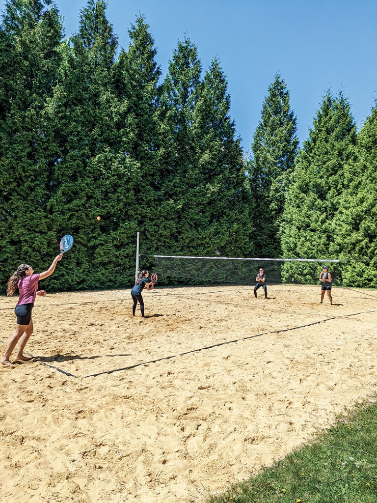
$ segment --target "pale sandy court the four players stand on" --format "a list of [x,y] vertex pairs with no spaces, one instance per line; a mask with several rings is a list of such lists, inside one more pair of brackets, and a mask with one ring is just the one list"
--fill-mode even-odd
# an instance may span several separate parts
[[[8,503],[205,501],[376,391],[377,291],[156,288],[37,297],[1,366]],[[0,298],[4,353],[17,299]]]

